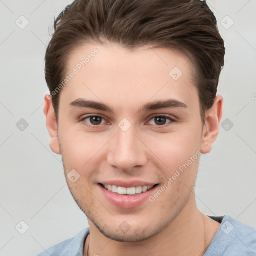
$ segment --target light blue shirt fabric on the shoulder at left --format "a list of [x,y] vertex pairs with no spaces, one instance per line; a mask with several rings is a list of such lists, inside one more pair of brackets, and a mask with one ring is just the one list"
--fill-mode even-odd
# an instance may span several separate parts
[[82,256],[83,244],[89,234],[89,228],[83,229],[76,236],[64,240],[52,247],[44,250],[37,256]]

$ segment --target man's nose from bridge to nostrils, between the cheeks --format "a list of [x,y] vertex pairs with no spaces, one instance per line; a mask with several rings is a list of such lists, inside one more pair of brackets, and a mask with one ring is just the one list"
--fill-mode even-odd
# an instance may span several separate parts
[[134,126],[126,131],[117,127],[116,135],[108,144],[108,163],[122,171],[130,171],[147,162],[147,147],[136,134]]

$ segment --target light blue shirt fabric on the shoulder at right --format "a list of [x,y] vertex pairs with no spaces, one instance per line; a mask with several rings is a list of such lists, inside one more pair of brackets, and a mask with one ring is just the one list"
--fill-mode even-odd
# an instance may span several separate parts
[[242,224],[228,215],[215,218],[217,221],[220,219],[221,225],[205,256],[214,255],[212,253],[220,253],[219,255],[223,256],[246,256],[256,253],[255,228]]

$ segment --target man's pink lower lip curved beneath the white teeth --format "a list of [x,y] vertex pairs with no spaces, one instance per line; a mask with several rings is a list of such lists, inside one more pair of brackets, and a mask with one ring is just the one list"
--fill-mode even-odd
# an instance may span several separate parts
[[139,205],[141,205],[143,202],[145,202],[149,196],[157,189],[157,186],[152,187],[150,190],[146,192],[142,192],[140,194],[134,194],[134,195],[126,195],[126,194],[118,194],[113,193],[104,187],[102,185],[98,184],[99,188],[103,192],[104,196],[115,206],[129,209],[134,208]]

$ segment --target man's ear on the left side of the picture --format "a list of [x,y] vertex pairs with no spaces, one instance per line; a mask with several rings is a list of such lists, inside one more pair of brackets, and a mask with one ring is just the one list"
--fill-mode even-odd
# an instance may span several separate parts
[[53,109],[50,94],[46,94],[44,96],[43,112],[46,117],[46,126],[50,134],[50,149],[56,154],[61,154],[58,141],[57,120]]

